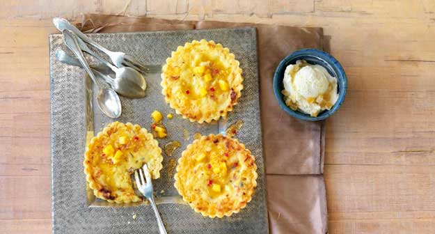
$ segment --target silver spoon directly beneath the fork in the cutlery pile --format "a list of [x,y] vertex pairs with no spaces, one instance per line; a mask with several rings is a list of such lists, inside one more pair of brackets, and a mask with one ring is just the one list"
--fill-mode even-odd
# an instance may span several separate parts
[[[128,80],[130,82],[133,82],[134,84],[139,85],[145,91],[146,89],[146,81],[145,78],[143,78],[143,75],[138,72],[137,70],[134,70],[133,68],[129,67],[121,67],[116,68],[116,66],[112,65],[108,61],[104,60],[101,56],[93,52],[92,49],[89,49],[88,45],[81,40],[80,38],[77,38],[77,42],[79,43],[79,47],[84,52],[94,56],[96,59],[98,59],[100,62],[102,62],[104,65],[108,66],[113,72],[115,72],[115,79],[114,83],[118,83],[118,86],[122,86],[123,83],[125,83],[125,80]],[[145,96],[145,94],[144,94]],[[143,97],[142,97],[143,98]]]

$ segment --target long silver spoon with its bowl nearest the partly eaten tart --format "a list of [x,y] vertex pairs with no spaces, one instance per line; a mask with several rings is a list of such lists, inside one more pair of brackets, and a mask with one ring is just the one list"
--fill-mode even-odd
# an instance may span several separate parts
[[88,62],[86,62],[86,59],[83,56],[83,53],[81,52],[81,49],[79,47],[79,44],[77,42],[77,37],[72,33],[70,30],[63,30],[63,42],[65,42],[65,45],[67,45],[68,48],[71,49],[72,52],[77,56],[79,59],[81,65],[83,65],[86,72],[88,72],[88,75],[90,79],[92,79],[95,84],[100,88],[100,91],[97,93],[97,104],[98,107],[100,107],[100,110],[110,118],[118,118],[121,115],[121,102],[119,100],[118,94],[116,94],[115,91],[111,88],[104,88],[102,84],[98,81],[98,79],[95,77],[92,70],[90,70],[90,67],[88,65]]

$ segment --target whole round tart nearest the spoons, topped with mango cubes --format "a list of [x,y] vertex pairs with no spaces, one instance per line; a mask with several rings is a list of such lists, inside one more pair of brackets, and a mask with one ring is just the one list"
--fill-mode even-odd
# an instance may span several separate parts
[[243,89],[242,69],[234,54],[210,40],[179,46],[166,59],[161,86],[166,102],[191,122],[225,117]]

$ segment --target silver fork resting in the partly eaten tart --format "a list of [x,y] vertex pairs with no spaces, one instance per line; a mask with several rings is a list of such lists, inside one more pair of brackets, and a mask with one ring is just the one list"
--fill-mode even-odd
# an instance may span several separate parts
[[[137,171],[139,171],[139,173]],[[139,174],[141,175],[140,177]],[[145,178],[143,178],[144,174],[146,180]],[[148,166],[144,164],[143,171],[141,169],[134,171],[134,178],[136,179],[136,185],[139,191],[143,194],[143,196],[148,198],[148,201],[150,201],[151,203],[152,210],[154,210],[154,213],[157,218],[157,224],[159,224],[159,233],[166,234],[165,226],[161,221],[159,211],[157,210],[156,203],[154,202],[154,196],[152,195],[152,182],[151,182],[150,171],[148,171]]]

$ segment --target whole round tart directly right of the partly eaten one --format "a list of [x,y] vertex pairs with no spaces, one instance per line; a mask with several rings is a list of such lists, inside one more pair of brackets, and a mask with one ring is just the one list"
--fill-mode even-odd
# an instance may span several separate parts
[[203,216],[230,216],[251,201],[258,176],[254,160],[237,139],[221,134],[201,137],[178,160],[175,188]]

